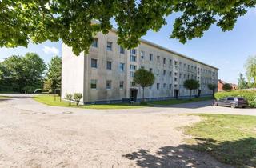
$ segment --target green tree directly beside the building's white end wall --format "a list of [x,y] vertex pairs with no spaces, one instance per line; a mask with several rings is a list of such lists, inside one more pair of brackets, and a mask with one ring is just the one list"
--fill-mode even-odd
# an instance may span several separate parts
[[47,83],[50,84],[50,90],[61,87],[62,83],[62,58],[55,56],[51,58],[48,64],[48,72],[46,74]]

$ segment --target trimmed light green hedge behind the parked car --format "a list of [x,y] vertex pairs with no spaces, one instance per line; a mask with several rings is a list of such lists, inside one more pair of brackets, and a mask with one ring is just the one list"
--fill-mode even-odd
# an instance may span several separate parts
[[256,91],[255,90],[234,90],[223,91],[214,94],[216,99],[226,98],[229,96],[242,97],[248,101],[249,106],[256,107]]

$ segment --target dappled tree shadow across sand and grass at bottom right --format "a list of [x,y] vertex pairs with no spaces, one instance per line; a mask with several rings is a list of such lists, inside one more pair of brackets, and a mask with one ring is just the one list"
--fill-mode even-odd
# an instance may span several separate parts
[[[256,166],[256,138],[226,142],[215,142],[213,139],[196,140],[198,143],[194,145],[161,147],[155,154],[139,149],[122,157],[134,160],[137,166],[146,168]],[[215,162],[208,154],[219,162]]]

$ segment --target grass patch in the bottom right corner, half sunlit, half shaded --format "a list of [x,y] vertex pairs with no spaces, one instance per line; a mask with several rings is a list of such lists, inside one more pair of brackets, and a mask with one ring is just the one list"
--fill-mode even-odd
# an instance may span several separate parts
[[196,114],[202,122],[187,126],[188,147],[206,152],[220,162],[256,167],[256,116]]

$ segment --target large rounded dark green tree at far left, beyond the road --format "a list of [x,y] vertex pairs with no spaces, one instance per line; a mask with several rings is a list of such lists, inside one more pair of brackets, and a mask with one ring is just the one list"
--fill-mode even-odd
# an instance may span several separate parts
[[24,57],[13,55],[2,62],[3,82],[6,90],[32,93],[42,86],[45,62],[37,54],[27,53]]

